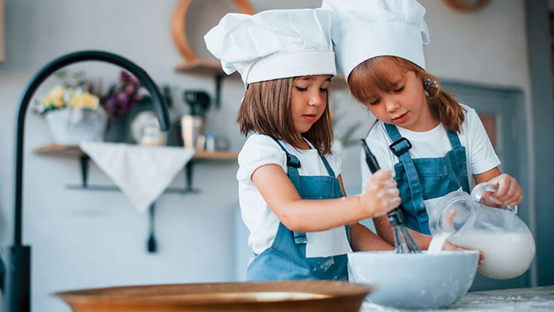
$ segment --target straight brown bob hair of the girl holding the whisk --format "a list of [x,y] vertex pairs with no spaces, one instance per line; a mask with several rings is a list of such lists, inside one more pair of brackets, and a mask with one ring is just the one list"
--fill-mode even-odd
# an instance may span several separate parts
[[[304,141],[295,134],[290,107],[293,82],[296,78],[298,77],[250,83],[237,114],[240,133],[248,135],[250,132],[257,131],[300,149]],[[314,144],[322,155],[331,152],[333,127],[329,110],[329,94],[327,94],[327,105],[321,118],[307,132],[302,133],[302,137]]]

